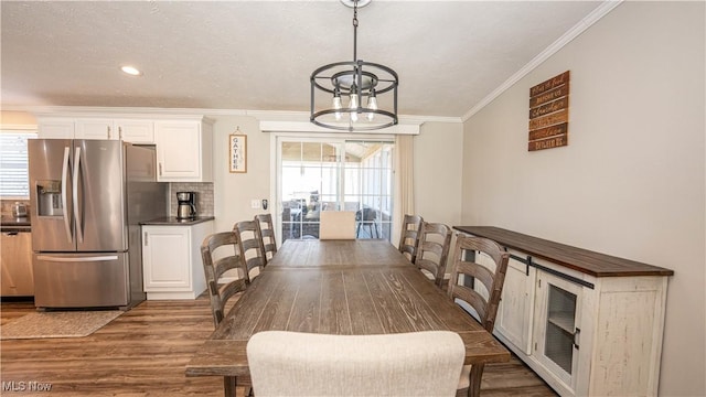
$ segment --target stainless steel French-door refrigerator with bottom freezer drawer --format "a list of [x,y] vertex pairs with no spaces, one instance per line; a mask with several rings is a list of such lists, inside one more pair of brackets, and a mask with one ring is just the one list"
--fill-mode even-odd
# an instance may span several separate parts
[[34,304],[127,310],[145,300],[140,222],[167,215],[154,148],[28,141]]

